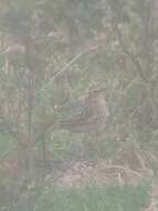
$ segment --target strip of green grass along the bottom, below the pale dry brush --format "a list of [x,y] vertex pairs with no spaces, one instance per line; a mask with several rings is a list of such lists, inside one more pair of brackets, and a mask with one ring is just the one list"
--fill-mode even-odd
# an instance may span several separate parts
[[144,184],[53,187],[43,191],[36,211],[141,211],[148,199],[149,189]]

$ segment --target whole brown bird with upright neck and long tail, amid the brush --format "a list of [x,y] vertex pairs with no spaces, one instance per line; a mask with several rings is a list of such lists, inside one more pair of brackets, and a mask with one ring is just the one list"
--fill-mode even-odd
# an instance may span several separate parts
[[105,129],[108,115],[109,110],[105,99],[105,89],[88,90],[80,114],[61,119],[57,123],[54,123],[54,121],[46,122],[40,128],[40,132],[33,144],[42,139],[49,128],[53,130],[65,130],[71,133],[84,133],[95,139]]

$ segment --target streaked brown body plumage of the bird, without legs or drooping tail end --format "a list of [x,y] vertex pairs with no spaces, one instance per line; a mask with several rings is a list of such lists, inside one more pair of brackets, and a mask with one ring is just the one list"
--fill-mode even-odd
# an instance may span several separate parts
[[92,133],[98,131],[106,122],[108,107],[104,90],[92,90],[85,99],[82,115],[60,122],[60,128],[71,132]]

